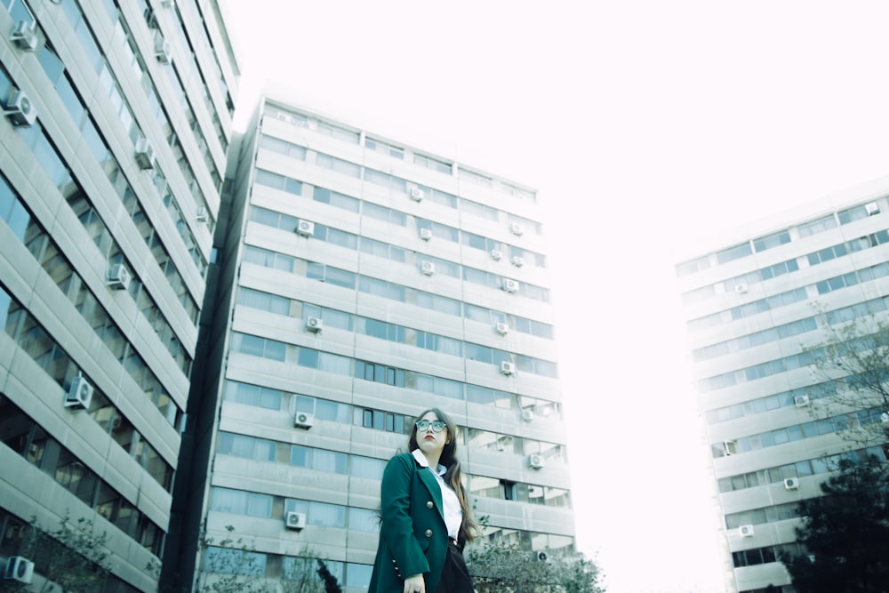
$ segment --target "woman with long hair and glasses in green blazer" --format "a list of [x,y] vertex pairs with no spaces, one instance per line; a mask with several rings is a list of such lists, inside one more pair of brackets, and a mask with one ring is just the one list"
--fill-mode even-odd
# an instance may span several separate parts
[[368,593],[472,593],[463,546],[477,524],[463,492],[456,426],[431,408],[417,417],[411,453],[389,460],[380,545]]

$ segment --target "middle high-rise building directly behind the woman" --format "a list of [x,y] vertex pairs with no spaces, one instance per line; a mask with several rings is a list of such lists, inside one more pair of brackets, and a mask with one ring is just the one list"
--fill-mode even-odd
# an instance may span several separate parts
[[365,590],[382,470],[430,406],[459,426],[489,537],[529,561],[573,546],[537,192],[297,104],[262,100],[229,168],[183,537],[196,578],[247,558],[231,538],[257,577],[321,557]]

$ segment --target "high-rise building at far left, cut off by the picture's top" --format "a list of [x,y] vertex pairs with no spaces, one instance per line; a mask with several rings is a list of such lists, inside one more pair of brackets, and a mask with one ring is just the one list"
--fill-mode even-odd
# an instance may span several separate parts
[[156,590],[236,61],[213,0],[0,8],[0,570],[83,518]]

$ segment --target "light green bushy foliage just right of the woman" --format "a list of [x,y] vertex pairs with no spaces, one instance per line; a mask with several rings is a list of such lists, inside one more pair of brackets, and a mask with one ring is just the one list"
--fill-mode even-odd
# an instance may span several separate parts
[[479,593],[604,593],[598,566],[580,552],[530,552],[487,542],[466,553]]

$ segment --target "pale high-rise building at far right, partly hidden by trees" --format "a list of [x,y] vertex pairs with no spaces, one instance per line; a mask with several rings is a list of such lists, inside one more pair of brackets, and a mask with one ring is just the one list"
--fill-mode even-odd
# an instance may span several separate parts
[[887,196],[889,178],[827,196],[677,265],[730,591],[792,591],[797,503],[841,456],[885,459],[845,438],[882,410],[827,405],[844,388],[816,362],[833,330],[887,315]]

